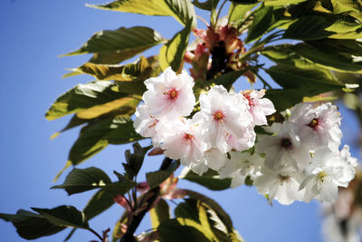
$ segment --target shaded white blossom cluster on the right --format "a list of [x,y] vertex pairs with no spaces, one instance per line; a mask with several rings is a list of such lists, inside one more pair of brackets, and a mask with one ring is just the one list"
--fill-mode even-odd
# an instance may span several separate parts
[[269,134],[258,136],[252,156],[232,155],[221,175],[233,178],[233,185],[243,184],[250,176],[260,193],[281,204],[313,198],[333,202],[338,198],[338,187],[348,187],[357,167],[347,145],[338,150],[342,138],[339,125],[337,107],[331,103],[316,108],[299,103],[286,121],[264,129]]

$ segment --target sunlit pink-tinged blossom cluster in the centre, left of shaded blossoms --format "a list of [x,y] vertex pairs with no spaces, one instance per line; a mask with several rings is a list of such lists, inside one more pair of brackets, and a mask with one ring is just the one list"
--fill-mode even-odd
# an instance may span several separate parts
[[145,84],[136,131],[200,175],[224,168],[228,152],[250,149],[254,126],[267,124],[266,115],[275,111],[263,91],[228,92],[221,85],[201,93],[196,105],[193,78],[170,67]]

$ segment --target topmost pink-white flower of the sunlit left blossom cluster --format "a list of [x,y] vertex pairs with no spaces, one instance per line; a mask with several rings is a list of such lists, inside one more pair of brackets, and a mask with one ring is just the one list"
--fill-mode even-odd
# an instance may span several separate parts
[[167,67],[159,77],[149,78],[145,84],[148,91],[143,94],[142,99],[152,117],[176,119],[193,111],[194,80],[185,70],[176,74],[171,67]]

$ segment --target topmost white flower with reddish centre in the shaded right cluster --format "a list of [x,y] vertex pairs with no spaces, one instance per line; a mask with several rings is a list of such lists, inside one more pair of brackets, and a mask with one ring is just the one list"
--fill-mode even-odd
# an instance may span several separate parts
[[330,150],[338,150],[342,138],[340,116],[330,102],[315,109],[308,103],[299,103],[291,110],[291,121],[299,125],[300,139],[311,149],[328,146]]

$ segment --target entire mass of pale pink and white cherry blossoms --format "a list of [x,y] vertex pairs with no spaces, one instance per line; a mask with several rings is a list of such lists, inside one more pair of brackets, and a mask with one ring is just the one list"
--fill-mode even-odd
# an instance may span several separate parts
[[[285,121],[266,126],[275,109],[264,91],[228,92],[215,85],[196,102],[193,78],[171,68],[145,84],[136,131],[199,175],[214,169],[221,179],[232,179],[232,188],[249,179],[281,204],[335,201],[338,187],[354,178],[357,160],[348,146],[338,150],[340,116],[331,103],[297,104]],[[256,125],[264,126],[258,137]]]

